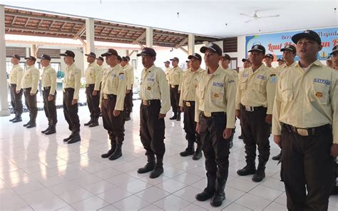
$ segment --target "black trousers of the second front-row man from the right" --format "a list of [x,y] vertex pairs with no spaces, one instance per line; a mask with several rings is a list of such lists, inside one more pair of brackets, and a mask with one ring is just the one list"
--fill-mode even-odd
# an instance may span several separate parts
[[207,174],[227,180],[230,142],[223,138],[226,113],[212,113],[211,117],[200,114],[200,140],[205,156]]

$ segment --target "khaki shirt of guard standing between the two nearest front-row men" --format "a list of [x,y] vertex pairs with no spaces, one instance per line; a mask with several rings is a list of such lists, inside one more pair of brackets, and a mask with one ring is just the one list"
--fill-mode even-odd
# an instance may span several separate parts
[[[272,114],[275,98],[275,86],[277,76],[270,68],[264,64],[255,72],[252,67],[245,68],[238,74],[238,86],[236,93],[236,109],[240,110],[240,105],[263,106],[267,108],[267,114]],[[272,77],[273,76],[273,77]]]

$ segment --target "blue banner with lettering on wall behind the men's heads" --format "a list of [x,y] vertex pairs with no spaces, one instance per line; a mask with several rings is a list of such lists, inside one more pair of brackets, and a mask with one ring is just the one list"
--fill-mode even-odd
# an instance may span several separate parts
[[[329,28],[329,29],[313,29],[316,31],[320,38],[322,39],[322,51],[318,53],[318,58],[320,60],[326,60],[329,53],[331,53],[332,48],[338,44],[338,28]],[[298,34],[302,31],[289,31],[284,33],[277,34],[261,34],[255,36],[246,36],[245,37],[245,52],[251,49],[251,46],[254,44],[260,43],[265,47],[266,53],[271,53],[275,56],[275,60],[282,57],[281,48],[284,48],[286,45],[295,45],[292,42],[291,38],[293,35]],[[298,60],[296,56],[296,60]]]

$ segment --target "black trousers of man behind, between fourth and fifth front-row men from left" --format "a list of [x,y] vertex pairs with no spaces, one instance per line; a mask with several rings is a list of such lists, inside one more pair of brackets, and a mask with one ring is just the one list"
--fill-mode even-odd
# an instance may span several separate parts
[[98,119],[100,117],[101,110],[98,107],[100,104],[100,91],[93,96],[95,84],[86,86],[87,105],[91,113],[91,119]]

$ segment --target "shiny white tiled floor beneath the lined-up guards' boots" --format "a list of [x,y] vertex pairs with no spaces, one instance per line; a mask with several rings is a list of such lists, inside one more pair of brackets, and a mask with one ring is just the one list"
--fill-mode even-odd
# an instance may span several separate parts
[[[81,126],[81,143],[67,145],[68,125],[58,110],[57,133],[43,135],[46,117],[39,112],[37,127],[0,118],[0,210],[287,210],[285,189],[280,182],[280,166],[267,163],[265,180],[252,182],[238,177],[245,165],[241,140],[235,134],[230,150],[226,200],[221,207],[210,201],[198,202],[195,194],[206,185],[204,159],[182,158],[186,147],[183,121],[166,118],[164,174],[150,179],[137,168],[146,162],[139,138],[139,101],[134,101],[133,120],[126,123],[123,157],[100,157],[108,150],[109,140],[101,125]],[[88,120],[88,108],[79,108],[81,125]],[[171,115],[171,113],[168,113]],[[238,128],[238,127],[237,127]],[[271,140],[271,155],[279,152]],[[338,197],[330,197],[329,210],[338,210]]]

